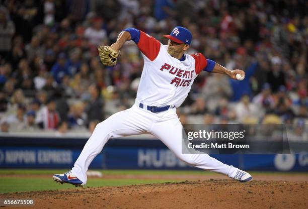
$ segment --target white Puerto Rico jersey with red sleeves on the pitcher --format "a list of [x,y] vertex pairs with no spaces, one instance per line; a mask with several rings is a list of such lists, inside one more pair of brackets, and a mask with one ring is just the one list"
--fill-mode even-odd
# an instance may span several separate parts
[[142,31],[137,46],[144,59],[137,101],[149,106],[179,107],[198,73],[206,67],[205,57],[201,53],[186,55],[180,61],[168,53],[167,45]]

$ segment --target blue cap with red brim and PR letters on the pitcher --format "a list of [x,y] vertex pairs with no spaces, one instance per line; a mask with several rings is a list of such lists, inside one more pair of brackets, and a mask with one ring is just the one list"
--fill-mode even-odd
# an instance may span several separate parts
[[188,44],[190,45],[192,35],[187,28],[183,28],[181,26],[175,27],[170,35],[165,35],[164,37],[179,43],[179,44]]

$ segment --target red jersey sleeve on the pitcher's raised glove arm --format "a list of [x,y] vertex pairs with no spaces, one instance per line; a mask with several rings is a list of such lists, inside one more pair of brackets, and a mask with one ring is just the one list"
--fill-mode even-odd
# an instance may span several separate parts
[[151,61],[155,60],[160,52],[161,43],[150,35],[140,31],[137,44],[140,51]]

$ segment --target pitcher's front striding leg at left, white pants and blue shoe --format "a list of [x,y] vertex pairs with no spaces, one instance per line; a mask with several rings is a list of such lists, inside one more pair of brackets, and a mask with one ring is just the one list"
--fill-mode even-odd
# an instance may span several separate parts
[[136,107],[110,116],[96,126],[71,171],[55,174],[53,179],[60,183],[85,185],[91,162],[102,151],[109,139],[145,133],[150,124],[151,120]]

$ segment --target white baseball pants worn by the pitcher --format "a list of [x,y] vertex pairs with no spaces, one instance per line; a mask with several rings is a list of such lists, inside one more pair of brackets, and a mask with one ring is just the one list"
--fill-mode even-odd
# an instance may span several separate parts
[[229,177],[235,176],[238,168],[223,164],[207,154],[182,154],[182,124],[175,108],[151,113],[139,108],[136,103],[130,109],[118,112],[96,126],[71,170],[81,181],[87,183],[86,172],[89,165],[109,139],[145,133],[156,136],[178,158],[190,165]]

